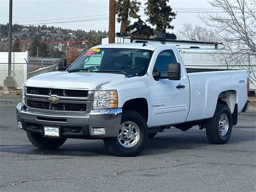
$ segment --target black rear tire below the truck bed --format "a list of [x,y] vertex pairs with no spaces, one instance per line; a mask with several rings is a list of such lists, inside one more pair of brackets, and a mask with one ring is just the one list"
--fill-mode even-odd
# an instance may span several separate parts
[[[226,134],[222,135],[219,129],[219,121],[222,114],[228,117],[228,130]],[[206,135],[210,142],[213,144],[225,144],[232,133],[233,120],[232,114],[225,104],[217,104],[214,116],[206,122]]]

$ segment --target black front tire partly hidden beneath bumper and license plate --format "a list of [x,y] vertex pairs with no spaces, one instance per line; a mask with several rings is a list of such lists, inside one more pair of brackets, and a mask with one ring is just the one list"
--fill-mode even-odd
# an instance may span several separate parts
[[44,137],[42,134],[35,134],[27,132],[28,140],[30,142],[41,149],[56,149],[64,144],[67,138],[50,138]]

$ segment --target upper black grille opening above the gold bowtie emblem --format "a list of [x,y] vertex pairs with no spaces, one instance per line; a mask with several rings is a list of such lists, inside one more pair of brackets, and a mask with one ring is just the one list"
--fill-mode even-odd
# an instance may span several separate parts
[[64,96],[64,97],[81,97],[86,98],[88,96],[87,90],[70,90],[70,89],[54,89],[54,88],[38,88],[38,87],[27,87],[27,94],[42,95],[42,96]]

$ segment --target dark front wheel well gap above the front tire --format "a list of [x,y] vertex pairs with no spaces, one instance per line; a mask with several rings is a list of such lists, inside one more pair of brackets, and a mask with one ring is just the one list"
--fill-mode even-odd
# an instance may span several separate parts
[[136,111],[148,122],[148,102],[145,98],[128,100],[124,103],[122,109]]

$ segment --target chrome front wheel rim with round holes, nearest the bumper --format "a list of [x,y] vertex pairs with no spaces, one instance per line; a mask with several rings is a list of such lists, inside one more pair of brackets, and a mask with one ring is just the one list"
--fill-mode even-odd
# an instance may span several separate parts
[[118,142],[126,148],[135,146],[140,140],[140,129],[131,121],[123,122],[118,132]]

